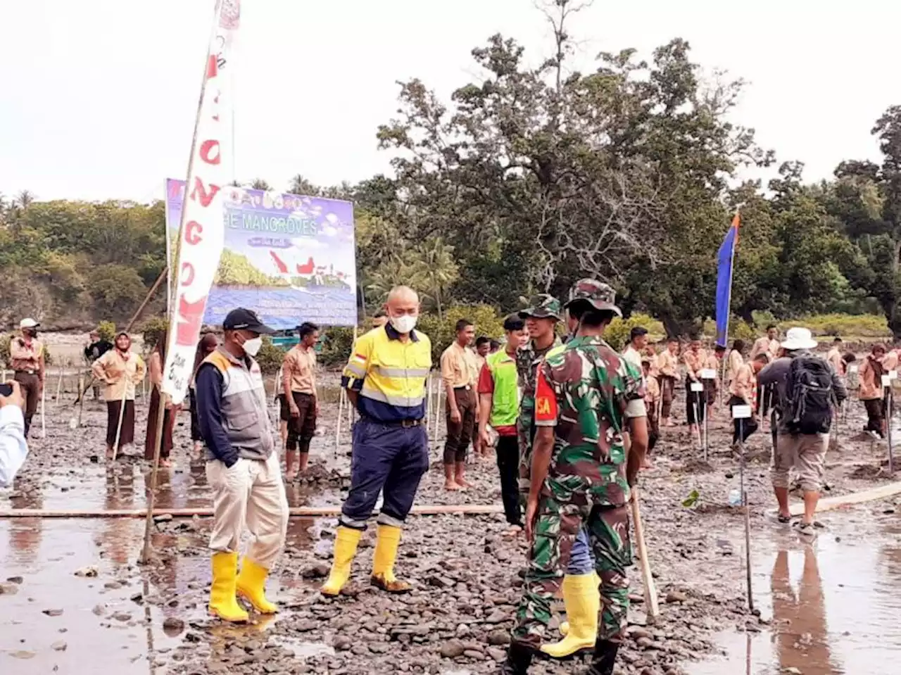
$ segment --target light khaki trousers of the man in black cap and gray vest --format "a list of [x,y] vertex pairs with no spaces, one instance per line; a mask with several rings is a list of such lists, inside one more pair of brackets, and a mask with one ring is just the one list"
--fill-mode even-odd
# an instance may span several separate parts
[[287,498],[278,453],[268,460],[241,459],[226,468],[219,460],[206,462],[206,481],[213,488],[215,552],[237,552],[246,525],[253,536],[247,557],[269,569],[285,545]]

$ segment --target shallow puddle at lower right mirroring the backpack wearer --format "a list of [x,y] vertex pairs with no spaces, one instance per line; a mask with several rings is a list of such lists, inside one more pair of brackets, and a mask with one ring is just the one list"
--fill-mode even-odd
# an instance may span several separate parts
[[689,672],[901,672],[901,525],[887,517],[877,524],[861,512],[835,514],[812,546],[791,534],[756,538],[754,599],[769,631],[721,634],[724,658]]

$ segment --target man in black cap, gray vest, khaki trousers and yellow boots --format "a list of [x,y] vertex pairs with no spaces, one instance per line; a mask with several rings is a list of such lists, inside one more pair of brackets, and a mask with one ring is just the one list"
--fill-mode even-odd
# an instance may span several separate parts
[[[209,612],[245,622],[240,595],[260,614],[277,607],[266,599],[268,571],[285,545],[287,499],[269,428],[266,389],[253,360],[262,334],[273,333],[249,309],[223,321],[223,345],[197,369],[197,422],[205,442],[206,480],[213,488],[213,585]],[[244,526],[253,534],[238,574]]]

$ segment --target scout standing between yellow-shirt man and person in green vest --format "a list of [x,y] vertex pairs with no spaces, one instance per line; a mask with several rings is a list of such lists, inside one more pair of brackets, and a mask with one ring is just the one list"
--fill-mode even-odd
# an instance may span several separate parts
[[444,443],[444,489],[472,487],[464,478],[466,451],[476,430],[478,362],[469,345],[476,337],[471,321],[457,322],[457,339],[441,354],[441,381],[447,390],[448,438]]

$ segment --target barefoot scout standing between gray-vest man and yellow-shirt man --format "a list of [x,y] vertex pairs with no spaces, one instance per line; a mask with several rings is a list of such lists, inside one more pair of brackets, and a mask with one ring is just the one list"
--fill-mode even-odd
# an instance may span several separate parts
[[[296,470],[303,473],[310,457],[310,441],[316,433],[319,399],[316,397],[316,351],[319,326],[305,322],[297,328],[300,342],[288,350],[282,363],[282,389],[287,416],[285,477],[294,480]],[[285,415],[287,413],[287,415]],[[296,470],[295,470],[296,468]]]

